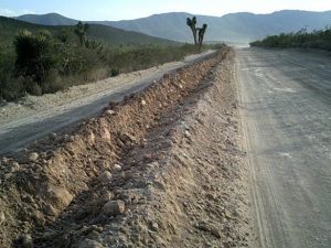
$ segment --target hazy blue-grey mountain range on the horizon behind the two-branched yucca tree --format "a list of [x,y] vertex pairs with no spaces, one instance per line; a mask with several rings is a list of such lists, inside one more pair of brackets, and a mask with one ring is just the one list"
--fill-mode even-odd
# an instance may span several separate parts
[[[38,19],[45,19],[44,24],[50,24],[50,20],[56,20],[47,15]],[[35,22],[33,15],[23,15],[24,20]],[[46,18],[45,18],[46,17]],[[106,24],[114,28],[136,31],[152,36],[169,39],[174,41],[192,41],[191,32],[185,24],[185,20],[193,17],[191,13],[164,13],[156,14],[148,18],[129,20],[129,21],[97,21],[89,23]],[[19,19],[22,17],[19,17]],[[250,42],[261,39],[266,35],[279,34],[281,32],[296,32],[306,25],[309,30],[323,29],[331,24],[331,11],[310,12],[299,10],[284,10],[270,14],[253,14],[253,13],[232,13],[221,18],[196,15],[200,24],[207,23],[209,31],[206,41],[231,41],[231,42]],[[63,17],[57,24],[72,23],[75,20]],[[52,24],[56,22],[52,21]]]

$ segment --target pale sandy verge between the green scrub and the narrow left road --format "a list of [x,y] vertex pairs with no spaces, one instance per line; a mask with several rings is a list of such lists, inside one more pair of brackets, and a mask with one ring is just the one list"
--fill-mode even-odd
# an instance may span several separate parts
[[213,51],[207,51],[202,54],[190,55],[181,62],[170,62],[147,69],[120,74],[116,77],[109,77],[90,84],[72,86],[54,94],[44,94],[42,96],[28,95],[17,103],[0,101],[0,125],[17,120],[18,118],[31,117],[40,112],[49,114],[51,111],[50,109],[54,108],[58,110],[64,106],[73,107],[92,103],[109,93],[122,89],[124,87],[134,87],[139,80],[146,80],[152,75],[167,72],[177,66],[182,66],[190,61],[211,54],[212,52]]

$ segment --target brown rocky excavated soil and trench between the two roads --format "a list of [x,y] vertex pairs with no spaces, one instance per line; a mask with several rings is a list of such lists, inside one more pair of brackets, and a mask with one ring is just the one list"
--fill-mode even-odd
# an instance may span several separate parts
[[0,247],[247,247],[234,52],[0,165]]

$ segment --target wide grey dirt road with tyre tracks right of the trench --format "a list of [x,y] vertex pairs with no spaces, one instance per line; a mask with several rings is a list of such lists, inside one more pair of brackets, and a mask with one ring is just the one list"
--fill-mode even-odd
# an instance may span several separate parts
[[331,247],[331,57],[237,50],[261,247]]

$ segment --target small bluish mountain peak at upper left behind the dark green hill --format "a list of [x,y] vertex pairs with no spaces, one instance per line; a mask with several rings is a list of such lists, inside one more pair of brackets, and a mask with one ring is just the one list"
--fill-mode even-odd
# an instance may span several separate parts
[[75,25],[78,21],[63,17],[57,13],[47,14],[23,14],[17,18],[20,21],[41,25]]

